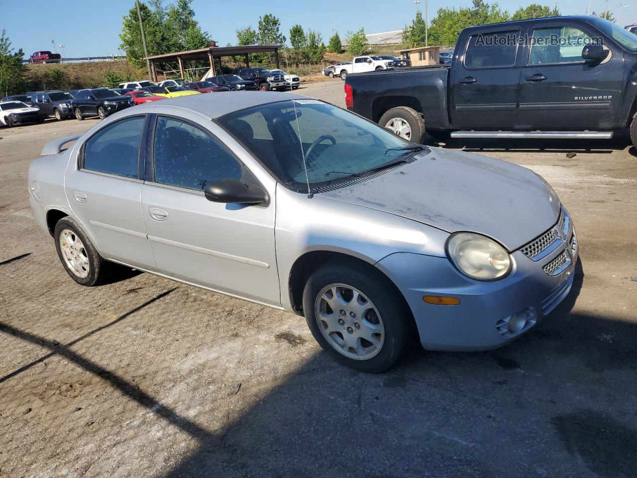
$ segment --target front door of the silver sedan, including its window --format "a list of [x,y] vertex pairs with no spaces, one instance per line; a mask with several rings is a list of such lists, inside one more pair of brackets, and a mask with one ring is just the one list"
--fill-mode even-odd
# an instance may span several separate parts
[[206,182],[243,180],[250,171],[210,129],[157,117],[152,180],[142,210],[159,272],[192,284],[280,307],[275,257],[275,204],[213,203]]

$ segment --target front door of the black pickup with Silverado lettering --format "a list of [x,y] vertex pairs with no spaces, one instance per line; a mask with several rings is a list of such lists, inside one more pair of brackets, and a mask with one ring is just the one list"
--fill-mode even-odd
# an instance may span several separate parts
[[[589,25],[567,18],[533,23],[533,37],[520,70],[520,126],[565,130],[613,127],[624,57],[612,46],[615,51],[609,50],[604,61],[584,61],[582,48],[598,37]],[[603,44],[608,48],[608,42]]]

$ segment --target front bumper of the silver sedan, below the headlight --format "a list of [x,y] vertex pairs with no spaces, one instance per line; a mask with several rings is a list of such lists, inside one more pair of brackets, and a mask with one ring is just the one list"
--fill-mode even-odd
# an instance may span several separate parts
[[[568,235],[561,237],[559,247],[538,261],[529,259],[522,250],[513,252],[512,272],[492,282],[469,279],[447,257],[397,252],[376,266],[403,293],[425,349],[496,349],[531,330],[571,290],[579,251],[572,240],[572,224],[567,227]],[[559,260],[562,256],[566,257],[564,263]],[[552,269],[550,265],[556,261],[561,266]],[[452,296],[460,303],[431,305],[423,296]],[[518,329],[515,322],[524,325]]]

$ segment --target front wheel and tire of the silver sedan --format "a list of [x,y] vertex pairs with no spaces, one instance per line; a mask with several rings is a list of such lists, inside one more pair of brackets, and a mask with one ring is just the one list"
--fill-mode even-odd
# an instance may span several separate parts
[[[345,300],[338,311],[329,307],[334,291]],[[318,344],[362,372],[384,372],[396,365],[413,335],[411,313],[394,285],[380,272],[370,273],[368,266],[353,262],[326,264],[312,273],[303,291],[303,310]]]

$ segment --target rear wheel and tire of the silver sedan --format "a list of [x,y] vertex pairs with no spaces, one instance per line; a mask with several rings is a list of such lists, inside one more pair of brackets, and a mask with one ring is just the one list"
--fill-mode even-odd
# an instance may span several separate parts
[[93,243],[72,217],[63,217],[55,224],[53,237],[57,256],[64,270],[75,282],[92,287],[110,278],[112,264],[102,259]]

